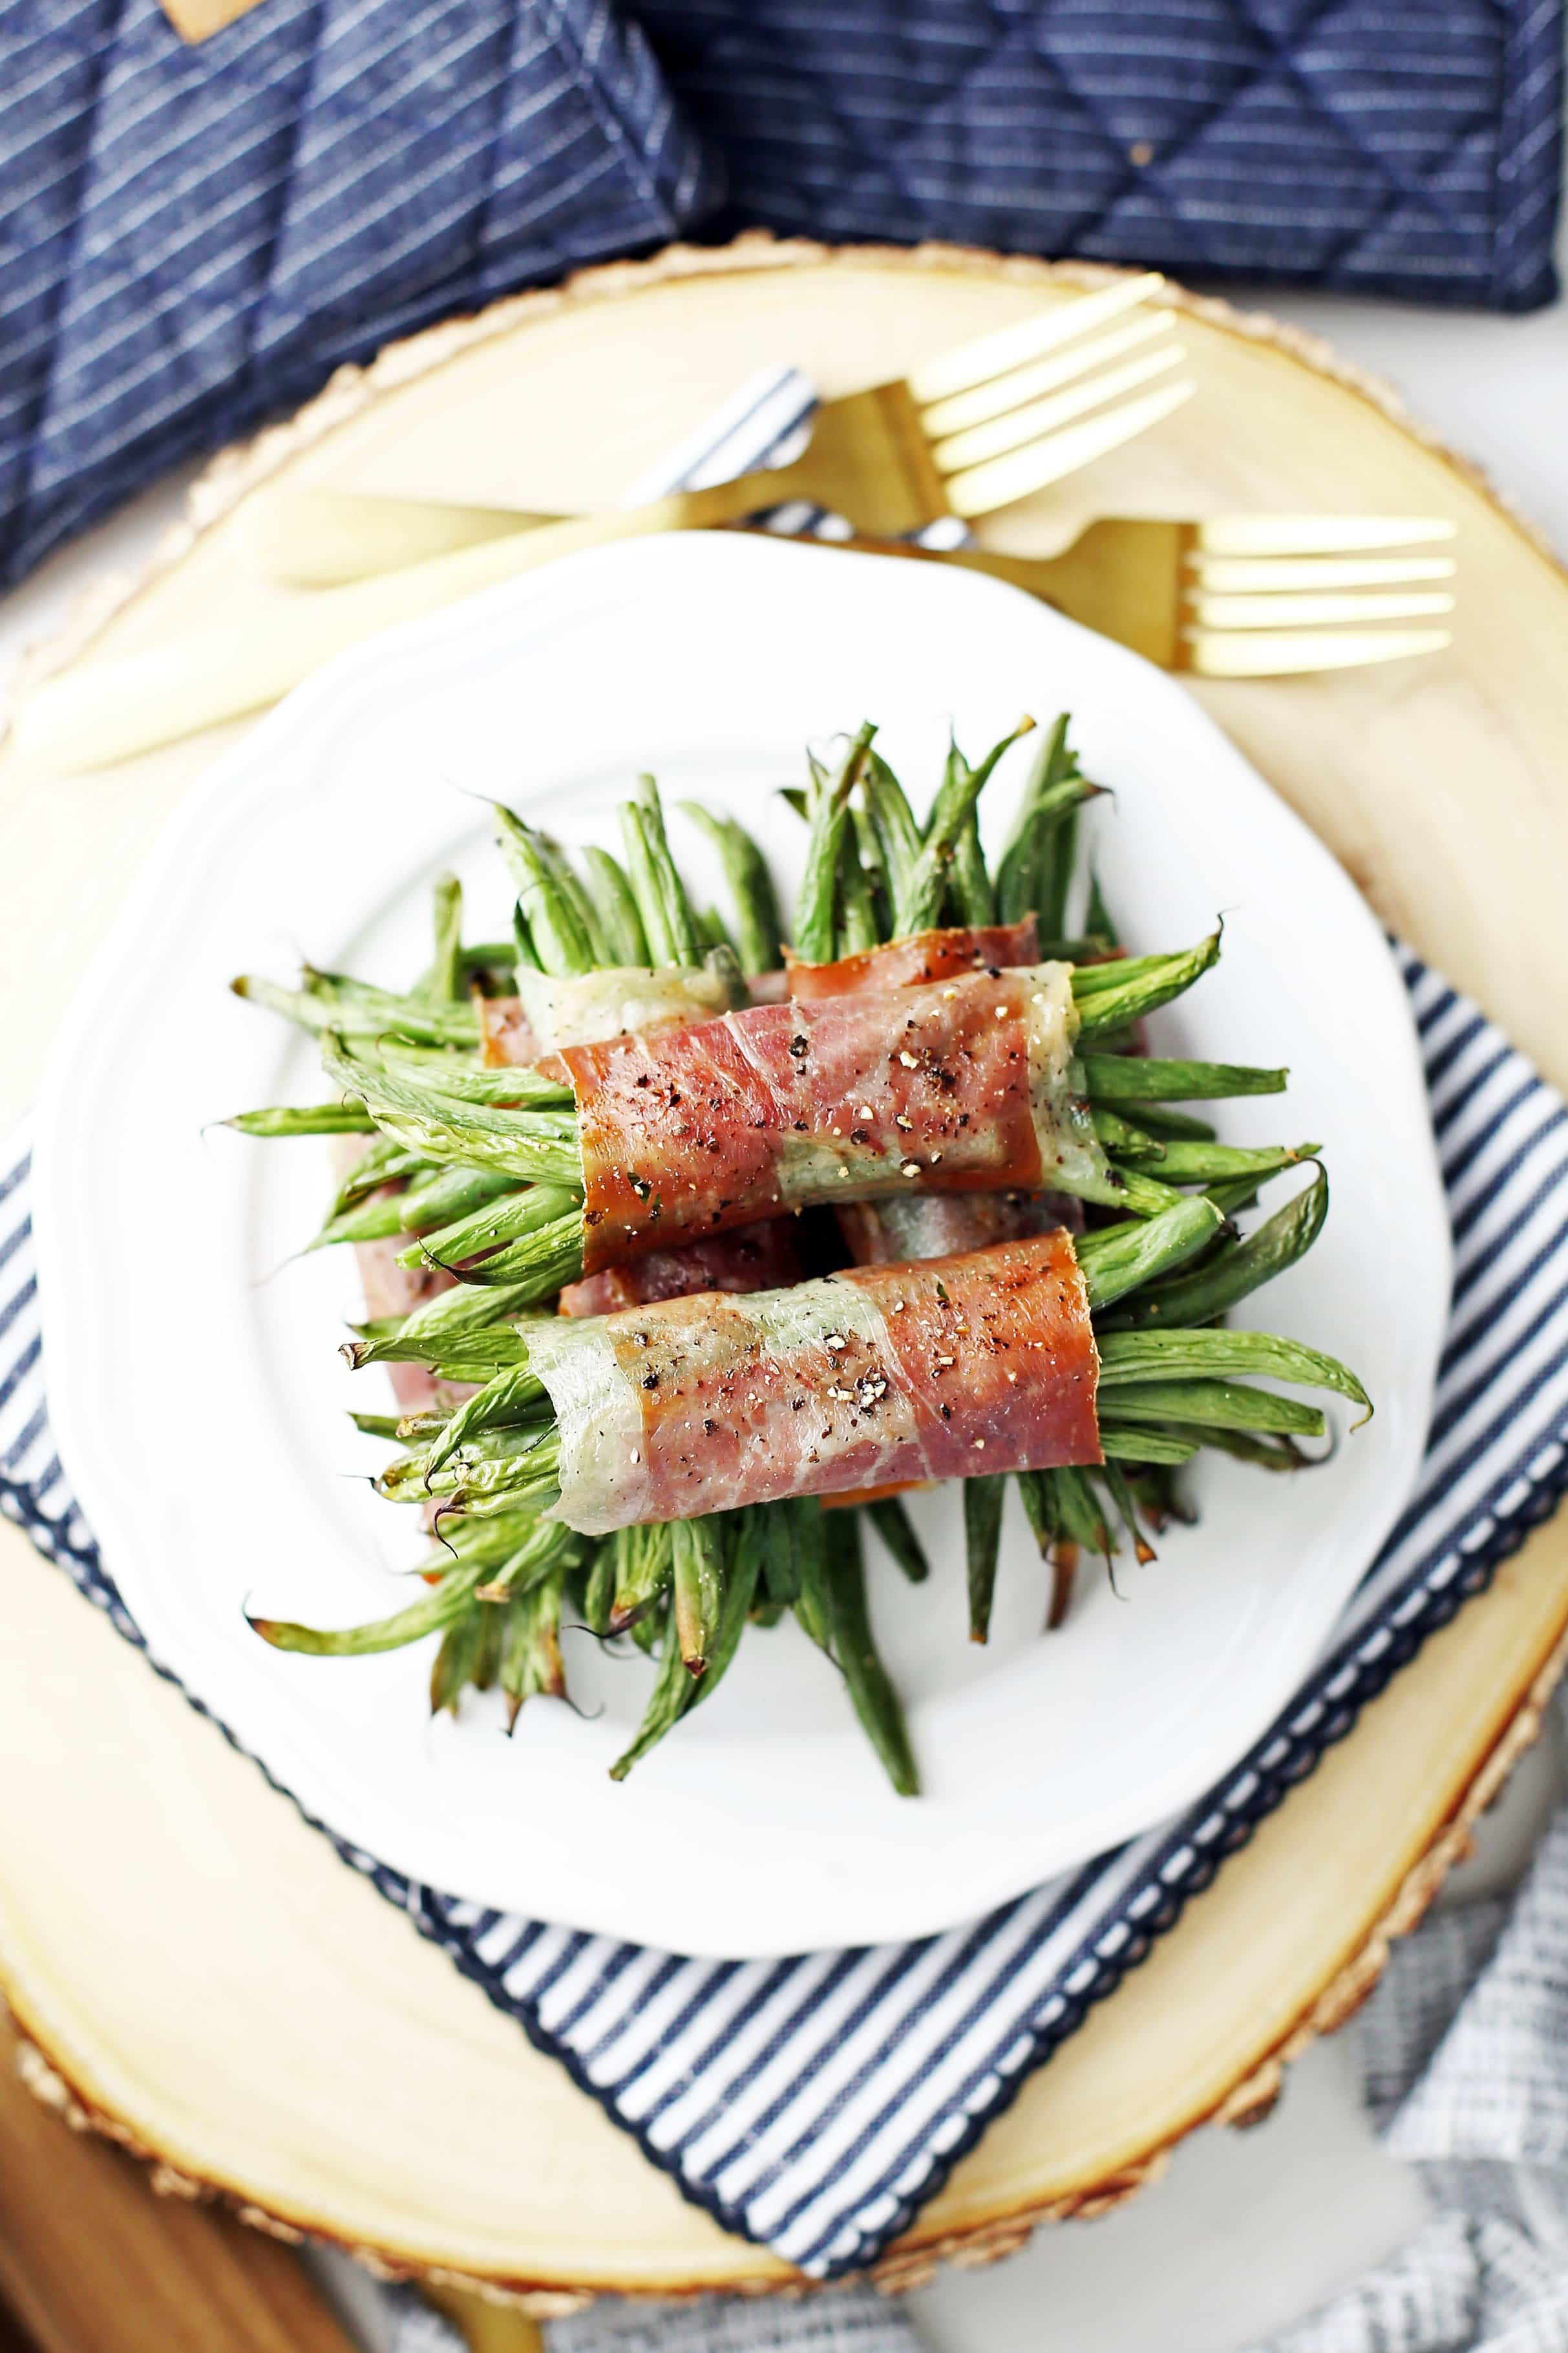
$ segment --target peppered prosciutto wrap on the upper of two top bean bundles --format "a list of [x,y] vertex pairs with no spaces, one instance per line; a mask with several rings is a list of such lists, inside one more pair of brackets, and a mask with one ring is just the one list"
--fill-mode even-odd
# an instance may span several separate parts
[[585,1273],[813,1202],[1117,1184],[1072,1085],[1070,965],[750,1005],[564,1047]]

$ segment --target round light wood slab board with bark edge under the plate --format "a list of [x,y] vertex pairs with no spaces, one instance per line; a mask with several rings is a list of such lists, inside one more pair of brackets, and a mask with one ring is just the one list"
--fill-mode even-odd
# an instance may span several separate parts
[[[45,659],[155,645],[214,612],[244,628],[277,591],[242,572],[233,508],[282,468],[607,506],[762,365],[790,358],[849,391],[1105,275],[743,240],[498,304],[346,372],[221,459],[146,579],[106,591]],[[1267,320],[1171,299],[1201,398],[987,536],[1044,551],[1095,511],[1455,515],[1448,656],[1194,692],[1378,913],[1561,1082],[1568,579],[1389,395]],[[0,753],[0,1111],[31,1101],[49,1007],[219,741],[71,781]],[[604,2287],[790,2282],[684,2205],[14,1529],[0,1544],[0,1984],[45,2085],[167,2181],[393,2268],[545,2308]],[[1462,1849],[1535,1729],[1566,1628],[1568,1529],[1549,1527],[1025,2085],[882,2278],[1001,2254],[1044,2217],[1126,2195],[1204,2118],[1260,2113]]]

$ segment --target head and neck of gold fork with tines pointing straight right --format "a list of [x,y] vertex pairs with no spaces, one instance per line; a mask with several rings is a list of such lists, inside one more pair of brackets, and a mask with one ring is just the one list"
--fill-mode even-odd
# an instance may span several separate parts
[[961,565],[1027,588],[1164,671],[1286,678],[1439,654],[1446,628],[1392,628],[1453,612],[1453,555],[1394,548],[1453,539],[1439,515],[1211,515],[1091,522],[1058,555],[842,539],[875,555]]

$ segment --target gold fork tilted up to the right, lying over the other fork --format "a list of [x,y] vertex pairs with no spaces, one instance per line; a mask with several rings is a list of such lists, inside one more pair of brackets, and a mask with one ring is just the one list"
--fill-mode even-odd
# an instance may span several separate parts
[[[383,628],[616,539],[736,522],[783,499],[849,513],[856,529],[877,536],[1009,506],[1147,433],[1190,398],[1187,379],[1135,391],[1182,360],[1166,325],[1173,313],[1091,334],[1159,285],[1159,273],[1119,280],[926,360],[898,384],[825,402],[792,466],[536,529],[527,515],[508,518],[505,536],[449,539],[444,553],[320,588],[244,631],[209,628],[158,652],[75,664],[21,704],[16,746],[66,772],[125,760],[261,711]],[[1128,360],[1133,325],[1152,348]]]

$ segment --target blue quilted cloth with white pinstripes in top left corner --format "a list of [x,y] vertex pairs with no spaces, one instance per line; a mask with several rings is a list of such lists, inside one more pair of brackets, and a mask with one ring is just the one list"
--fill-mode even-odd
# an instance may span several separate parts
[[614,0],[0,0],[0,576],[339,360],[712,212]]

